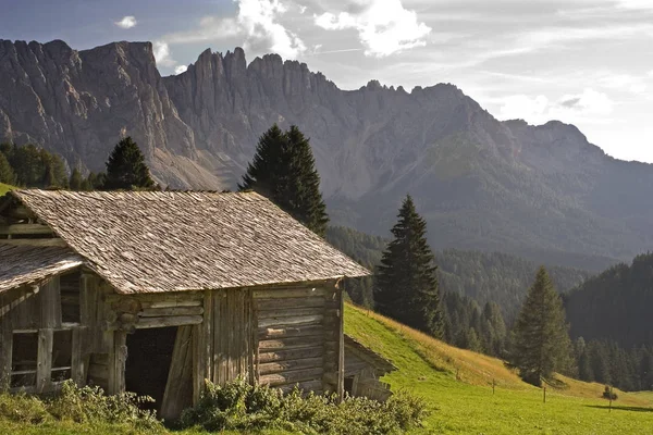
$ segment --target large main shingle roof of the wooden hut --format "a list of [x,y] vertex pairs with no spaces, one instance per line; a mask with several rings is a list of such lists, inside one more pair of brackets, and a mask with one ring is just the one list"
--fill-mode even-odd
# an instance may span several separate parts
[[122,294],[369,274],[255,192],[14,190],[12,195]]

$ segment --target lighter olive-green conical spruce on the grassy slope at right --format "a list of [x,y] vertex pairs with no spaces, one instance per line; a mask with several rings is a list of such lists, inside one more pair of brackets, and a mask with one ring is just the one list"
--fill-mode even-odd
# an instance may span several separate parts
[[522,380],[542,385],[569,366],[570,340],[563,302],[542,266],[515,324],[512,362]]

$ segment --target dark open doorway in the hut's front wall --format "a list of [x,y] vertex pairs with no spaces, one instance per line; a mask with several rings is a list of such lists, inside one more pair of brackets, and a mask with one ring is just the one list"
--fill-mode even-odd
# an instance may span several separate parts
[[136,330],[127,335],[125,387],[156,400],[146,408],[161,409],[176,330],[176,326]]

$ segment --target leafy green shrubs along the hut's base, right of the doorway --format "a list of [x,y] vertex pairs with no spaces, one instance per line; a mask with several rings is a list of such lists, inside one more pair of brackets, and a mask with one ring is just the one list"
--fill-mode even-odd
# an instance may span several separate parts
[[304,395],[295,388],[252,386],[238,378],[225,386],[207,382],[199,403],[183,412],[182,427],[207,431],[285,430],[305,434],[393,434],[420,425],[424,402],[399,393],[386,402],[347,397]]

